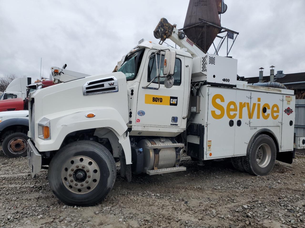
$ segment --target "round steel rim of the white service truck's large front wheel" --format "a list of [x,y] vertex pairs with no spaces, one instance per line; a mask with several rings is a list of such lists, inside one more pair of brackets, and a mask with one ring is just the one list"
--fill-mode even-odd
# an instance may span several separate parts
[[96,162],[86,156],[71,157],[63,165],[61,180],[75,194],[91,192],[99,183],[100,172]]

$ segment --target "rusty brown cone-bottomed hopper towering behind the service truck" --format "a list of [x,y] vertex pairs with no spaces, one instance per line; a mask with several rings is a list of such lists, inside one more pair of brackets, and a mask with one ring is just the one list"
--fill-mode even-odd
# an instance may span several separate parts
[[[224,13],[226,8],[221,0],[190,0],[183,27],[186,28],[199,23],[199,18],[220,26],[218,14]],[[183,29],[183,31],[188,39],[196,43],[204,52],[207,52],[221,29],[211,25],[206,25],[206,29],[203,28],[204,25],[198,25]]]

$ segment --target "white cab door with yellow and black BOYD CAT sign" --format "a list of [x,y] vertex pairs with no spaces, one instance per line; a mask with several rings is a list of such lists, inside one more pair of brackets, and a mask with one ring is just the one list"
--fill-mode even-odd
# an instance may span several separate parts
[[[151,50],[149,55],[155,52]],[[137,113],[135,118],[136,125],[150,126],[170,126],[181,127],[181,123],[185,125],[183,116],[186,116],[187,102],[184,97],[188,98],[189,80],[185,80],[185,57],[176,55],[174,85],[171,88],[164,87],[164,78],[160,78],[160,88],[158,80],[155,79],[148,87],[149,82],[156,77],[157,68],[160,64],[160,55],[151,57],[145,62],[140,86],[138,90]],[[160,75],[163,75],[164,53],[161,57]],[[187,94],[185,94],[187,91]],[[185,99],[186,100],[186,99]],[[184,107],[185,106],[185,107]]]

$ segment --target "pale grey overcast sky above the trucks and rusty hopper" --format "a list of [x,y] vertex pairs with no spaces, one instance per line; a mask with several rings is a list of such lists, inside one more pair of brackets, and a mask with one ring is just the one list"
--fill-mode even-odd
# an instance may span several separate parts
[[[258,76],[260,67],[269,75],[271,65],[305,71],[304,0],[225,3],[221,25],[240,34],[230,52],[240,76]],[[0,0],[0,76],[39,78],[41,57],[45,77],[65,63],[86,74],[109,73],[142,38],[158,42],[153,30],[161,17],[182,28],[187,7],[187,0]]]

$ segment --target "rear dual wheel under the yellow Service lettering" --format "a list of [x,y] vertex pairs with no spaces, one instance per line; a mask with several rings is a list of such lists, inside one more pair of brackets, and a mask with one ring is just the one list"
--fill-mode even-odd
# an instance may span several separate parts
[[249,153],[242,158],[242,164],[248,173],[264,176],[272,170],[275,159],[274,141],[270,136],[260,134],[251,143]]

